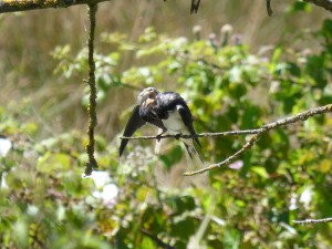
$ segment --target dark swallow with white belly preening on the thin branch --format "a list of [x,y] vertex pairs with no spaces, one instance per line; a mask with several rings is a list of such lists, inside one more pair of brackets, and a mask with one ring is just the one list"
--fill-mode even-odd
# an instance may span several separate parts
[[[123,136],[132,136],[136,129],[146,123],[153,124],[163,131],[158,136],[166,132],[176,135],[196,135],[189,107],[185,100],[178,93],[174,92],[159,93],[155,87],[143,90],[138,94],[137,104],[126,124]],[[196,154],[203,162],[195,148],[194,142],[201,146],[199,139],[196,137],[185,141],[185,147],[190,158]],[[122,139],[120,156],[123,154],[127,143],[128,139]]]

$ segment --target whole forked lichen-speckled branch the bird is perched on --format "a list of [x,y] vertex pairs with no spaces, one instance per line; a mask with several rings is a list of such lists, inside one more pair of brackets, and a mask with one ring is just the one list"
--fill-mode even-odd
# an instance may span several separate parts
[[270,124],[267,124],[260,128],[256,129],[247,129],[247,131],[232,131],[232,132],[224,132],[224,133],[203,133],[203,134],[197,134],[195,136],[190,135],[164,135],[164,136],[141,136],[141,137],[121,137],[121,138],[127,138],[127,139],[160,139],[160,138],[168,138],[168,137],[176,137],[176,138],[195,138],[195,137],[222,137],[222,136],[228,136],[228,135],[248,135],[248,134],[253,134],[249,138],[249,141],[234,155],[229,156],[225,160],[217,163],[217,164],[211,164],[205,168],[195,170],[195,172],[186,172],[184,173],[185,176],[193,176],[197,174],[201,174],[208,170],[211,170],[214,168],[219,168],[224,165],[228,165],[231,162],[234,162],[236,158],[238,158],[240,155],[242,155],[245,152],[250,149],[255,143],[260,138],[260,136],[271,129],[276,129],[278,127],[282,127],[292,123],[297,123],[299,121],[305,121],[307,118],[315,115],[321,115],[324,113],[331,113],[332,112],[332,104],[328,104],[324,106],[315,107],[315,108],[310,108],[305,112],[299,113],[297,115],[286,117],[276,122],[272,122]]

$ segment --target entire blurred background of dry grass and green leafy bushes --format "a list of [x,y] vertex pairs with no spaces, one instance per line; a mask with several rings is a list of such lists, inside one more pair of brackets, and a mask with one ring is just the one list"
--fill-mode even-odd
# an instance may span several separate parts
[[[179,92],[199,133],[332,103],[331,18],[303,2],[273,10],[267,18],[264,1],[205,1],[196,15],[187,1],[101,4],[101,172],[90,178],[85,8],[1,15],[1,248],[330,248],[331,225],[292,220],[332,216],[331,115],[272,131],[239,160],[195,177],[181,175],[200,166],[175,139],[162,155],[148,141],[117,157],[148,85]],[[245,141],[204,138],[200,153],[220,162]]]

